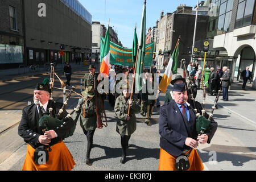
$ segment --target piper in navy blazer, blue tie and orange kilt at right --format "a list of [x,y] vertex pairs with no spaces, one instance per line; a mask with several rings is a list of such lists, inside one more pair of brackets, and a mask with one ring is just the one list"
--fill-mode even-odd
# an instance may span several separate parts
[[[176,171],[175,163],[178,156],[187,155],[190,164],[189,171],[201,171],[204,169],[196,148],[199,144],[210,143],[217,123],[210,119],[209,130],[198,135],[196,130],[196,115],[191,107],[188,107],[188,100],[185,83],[174,84],[174,100],[160,107],[159,113],[159,134],[160,134],[160,155],[159,171]],[[205,115],[207,118],[207,115]],[[205,118],[202,118],[205,120]],[[185,156],[184,156],[185,157]],[[183,159],[184,160],[184,159]]]

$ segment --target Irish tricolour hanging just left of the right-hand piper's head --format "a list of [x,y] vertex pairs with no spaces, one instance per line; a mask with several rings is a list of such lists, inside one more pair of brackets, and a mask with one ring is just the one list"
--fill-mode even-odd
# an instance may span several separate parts
[[179,57],[179,43],[180,42],[178,40],[176,47],[174,49],[174,52],[172,52],[172,56],[168,62],[166,71],[164,72],[163,78],[159,84],[159,89],[163,93],[166,93],[167,86],[172,81],[172,75],[177,73],[177,61],[178,61],[178,57]]

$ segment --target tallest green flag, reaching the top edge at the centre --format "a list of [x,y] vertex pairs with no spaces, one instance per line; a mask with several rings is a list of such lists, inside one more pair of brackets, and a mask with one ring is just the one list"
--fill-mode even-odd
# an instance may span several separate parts
[[135,85],[139,91],[142,89],[142,78],[140,77],[144,67],[144,57],[146,52],[146,1],[144,2],[141,20],[141,38],[139,39],[139,52],[137,64],[135,65]]

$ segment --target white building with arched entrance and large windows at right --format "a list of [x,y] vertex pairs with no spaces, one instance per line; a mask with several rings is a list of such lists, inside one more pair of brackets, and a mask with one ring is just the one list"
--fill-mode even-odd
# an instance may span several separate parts
[[256,89],[256,6],[255,0],[212,1],[219,11],[213,25],[213,48],[224,49],[229,57],[232,81],[241,81],[241,72],[247,67],[253,72],[252,88]]

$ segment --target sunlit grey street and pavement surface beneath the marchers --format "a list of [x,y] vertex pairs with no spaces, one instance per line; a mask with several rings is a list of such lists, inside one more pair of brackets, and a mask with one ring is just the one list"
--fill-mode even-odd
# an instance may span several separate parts
[[[84,72],[76,74],[77,83],[79,83],[79,77]],[[201,95],[202,90],[199,90],[198,101],[202,100]],[[199,155],[206,170],[256,170],[256,123],[254,119],[256,114],[253,111],[256,95],[253,91],[241,91],[237,85],[234,85],[230,90],[229,97],[230,102],[219,101],[219,109],[214,111],[214,119],[218,122],[219,127],[211,144],[199,146]],[[77,98],[72,97],[69,109],[75,107]],[[163,93],[160,94],[160,100],[163,104]],[[214,97],[207,97],[208,111],[213,101]],[[246,105],[249,105],[251,110],[245,109]],[[75,134],[65,139],[76,162],[74,170],[157,170],[159,163],[158,108],[155,109],[152,116],[154,118],[152,126],[145,125],[144,119],[137,114],[137,130],[131,136],[130,147],[127,150],[128,161],[121,164],[119,162],[122,154],[121,142],[119,134],[115,131],[115,114],[107,100],[105,106],[108,127],[97,129],[94,134],[94,147],[91,153],[93,166],[85,164],[86,137],[82,133],[79,123]],[[5,112],[16,112],[13,117],[20,117],[19,109],[15,112],[11,110],[5,110]],[[4,160],[0,160],[0,170],[20,170],[22,168],[26,144],[18,136],[17,130],[18,126],[14,126],[0,134],[0,148],[5,148],[0,152],[0,159],[4,158]]]

